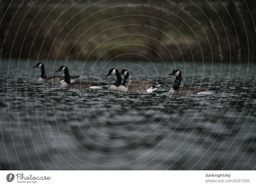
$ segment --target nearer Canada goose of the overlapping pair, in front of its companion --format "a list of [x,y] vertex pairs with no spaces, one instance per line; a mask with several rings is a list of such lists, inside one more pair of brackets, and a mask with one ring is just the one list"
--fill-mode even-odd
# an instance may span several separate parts
[[151,93],[162,85],[156,81],[129,80],[129,72],[125,69],[119,72],[119,74],[124,75],[123,83],[117,88],[119,92]]

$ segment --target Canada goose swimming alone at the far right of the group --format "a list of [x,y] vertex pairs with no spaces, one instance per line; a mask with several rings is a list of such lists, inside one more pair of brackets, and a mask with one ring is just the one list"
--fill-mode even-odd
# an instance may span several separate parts
[[187,94],[196,94],[199,92],[205,92],[208,91],[208,88],[198,88],[198,87],[182,87],[180,88],[180,82],[181,82],[181,72],[180,70],[174,70],[169,75],[176,76],[176,79],[174,80],[173,86],[170,89],[169,93],[172,95],[187,95]]

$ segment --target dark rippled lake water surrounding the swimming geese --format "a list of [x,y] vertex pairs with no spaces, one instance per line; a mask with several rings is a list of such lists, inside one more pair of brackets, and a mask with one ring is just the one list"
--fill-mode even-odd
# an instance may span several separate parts
[[[26,62],[0,67],[3,170],[255,169],[255,64],[100,61],[92,71],[93,62],[68,62],[82,80],[114,83],[116,76],[105,76],[117,68],[132,79],[166,82],[154,93],[124,94],[38,84],[36,61]],[[61,75],[55,71],[63,64],[48,61],[47,76]],[[174,69],[182,86],[216,91],[169,95]]]

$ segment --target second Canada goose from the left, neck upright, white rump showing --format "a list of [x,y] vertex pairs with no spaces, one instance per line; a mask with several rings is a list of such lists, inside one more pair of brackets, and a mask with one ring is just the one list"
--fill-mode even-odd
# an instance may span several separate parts
[[68,67],[67,66],[61,66],[59,70],[56,72],[63,71],[65,74],[65,79],[63,83],[61,84],[61,88],[93,88],[93,89],[100,89],[104,85],[108,85],[105,83],[99,83],[99,82],[89,82],[89,81],[76,81],[71,83],[70,82],[70,76],[68,72]]

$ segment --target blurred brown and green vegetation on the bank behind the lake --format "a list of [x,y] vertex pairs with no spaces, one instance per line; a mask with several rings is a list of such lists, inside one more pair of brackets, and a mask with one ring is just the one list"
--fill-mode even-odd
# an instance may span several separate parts
[[[108,51],[101,59],[183,61],[184,58],[185,61],[220,63],[218,42],[208,22],[211,19],[220,36],[223,62],[237,63],[238,48],[242,48],[242,61],[256,60],[255,1],[183,1],[184,10],[190,11],[202,25],[178,8],[180,1],[176,0],[173,3],[166,0],[38,0],[31,7],[29,2],[32,0],[1,1],[0,44],[6,29],[10,29],[4,44],[5,58],[26,59],[29,56],[35,60],[64,60],[69,56],[70,60],[96,60],[104,50],[117,45],[117,49]],[[76,4],[53,25],[52,21],[74,2]],[[169,13],[127,6],[134,2],[164,7]],[[169,33],[183,55],[166,34],[150,30],[144,27],[145,24]]]

